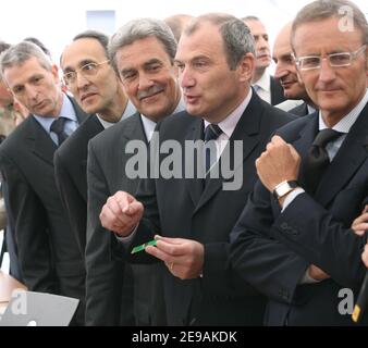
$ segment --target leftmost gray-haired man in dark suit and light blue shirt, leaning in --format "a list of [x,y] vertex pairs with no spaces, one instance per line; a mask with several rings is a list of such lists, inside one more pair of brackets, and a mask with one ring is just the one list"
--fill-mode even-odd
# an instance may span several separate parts
[[29,290],[82,299],[83,258],[56,187],[52,159],[86,114],[62,92],[58,67],[34,44],[13,46],[0,64],[9,89],[30,113],[0,147],[23,281]]

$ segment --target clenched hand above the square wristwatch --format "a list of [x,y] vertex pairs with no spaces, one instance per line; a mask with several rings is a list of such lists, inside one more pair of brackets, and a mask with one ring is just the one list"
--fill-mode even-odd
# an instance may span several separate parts
[[299,166],[299,154],[279,136],[272,137],[266,151],[256,161],[258,176],[271,192],[284,181],[296,181]]

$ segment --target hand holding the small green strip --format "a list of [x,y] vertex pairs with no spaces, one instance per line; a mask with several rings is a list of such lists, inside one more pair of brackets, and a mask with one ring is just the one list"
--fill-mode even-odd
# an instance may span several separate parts
[[155,236],[156,247],[146,252],[164,262],[169,271],[181,279],[197,278],[204,268],[205,248],[195,240]]

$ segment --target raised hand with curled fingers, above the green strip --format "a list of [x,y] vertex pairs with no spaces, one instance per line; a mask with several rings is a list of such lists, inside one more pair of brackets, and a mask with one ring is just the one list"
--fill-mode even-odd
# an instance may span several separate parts
[[100,213],[102,227],[122,237],[128,236],[139,223],[144,207],[127,192],[118,191],[109,197]]

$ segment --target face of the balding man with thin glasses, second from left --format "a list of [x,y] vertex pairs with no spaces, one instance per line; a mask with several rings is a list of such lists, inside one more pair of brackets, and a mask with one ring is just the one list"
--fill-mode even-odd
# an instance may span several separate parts
[[[94,38],[81,38],[68,46],[62,54],[63,73],[77,72],[76,79],[68,87],[81,108],[87,113],[109,114],[121,98],[120,82],[107,62],[101,44]],[[102,64],[99,64],[103,62]],[[83,76],[79,69],[89,63],[99,64],[94,76]]]

